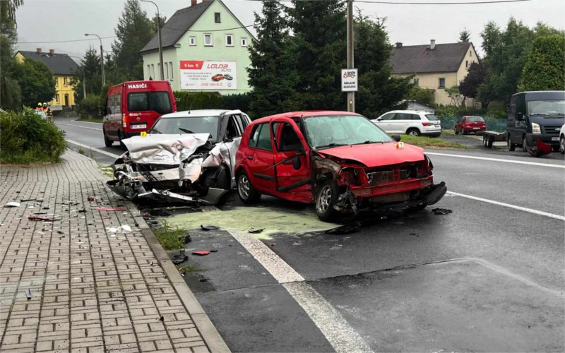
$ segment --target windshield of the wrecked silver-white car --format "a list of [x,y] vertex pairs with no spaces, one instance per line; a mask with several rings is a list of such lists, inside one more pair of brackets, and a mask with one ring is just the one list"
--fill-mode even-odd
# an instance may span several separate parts
[[210,133],[212,140],[218,138],[219,116],[179,116],[160,118],[150,133]]

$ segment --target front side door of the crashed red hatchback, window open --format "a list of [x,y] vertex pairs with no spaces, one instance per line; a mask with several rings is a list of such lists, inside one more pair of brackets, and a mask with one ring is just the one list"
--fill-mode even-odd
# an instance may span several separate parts
[[[275,149],[274,169],[278,196],[293,201],[310,202],[311,168],[304,151],[307,144],[295,121],[275,119],[270,123]],[[296,159],[297,158],[297,159]],[[294,165],[299,162],[297,165]]]

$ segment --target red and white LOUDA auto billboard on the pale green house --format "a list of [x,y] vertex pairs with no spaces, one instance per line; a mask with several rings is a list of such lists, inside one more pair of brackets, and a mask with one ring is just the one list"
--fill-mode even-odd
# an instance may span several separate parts
[[181,90],[237,90],[235,61],[181,60]]

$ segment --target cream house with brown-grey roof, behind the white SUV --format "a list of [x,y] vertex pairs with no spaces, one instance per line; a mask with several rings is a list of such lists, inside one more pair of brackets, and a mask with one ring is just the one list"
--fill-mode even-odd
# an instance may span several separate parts
[[[436,104],[451,104],[446,88],[451,88],[467,76],[472,63],[478,62],[477,52],[471,42],[406,45],[396,43],[391,56],[392,75],[406,77],[414,75],[421,88],[434,90]],[[473,100],[467,98],[471,106]]]

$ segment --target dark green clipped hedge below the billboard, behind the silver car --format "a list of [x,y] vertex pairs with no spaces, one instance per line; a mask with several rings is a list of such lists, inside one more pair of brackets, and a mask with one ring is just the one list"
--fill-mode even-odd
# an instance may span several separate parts
[[208,92],[184,92],[176,91],[174,99],[177,100],[177,110],[197,109],[239,109],[249,114],[249,102],[251,92],[236,95],[220,95]]

